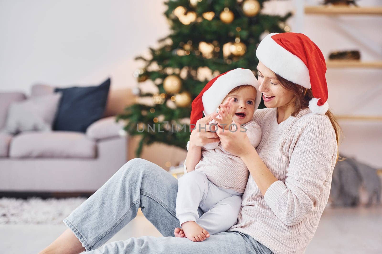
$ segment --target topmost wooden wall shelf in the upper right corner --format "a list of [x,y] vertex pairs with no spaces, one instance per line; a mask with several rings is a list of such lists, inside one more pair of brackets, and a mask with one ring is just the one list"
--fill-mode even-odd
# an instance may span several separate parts
[[305,6],[306,14],[324,15],[382,15],[382,6],[378,7],[356,7],[356,6]]

